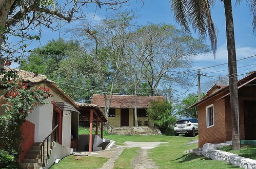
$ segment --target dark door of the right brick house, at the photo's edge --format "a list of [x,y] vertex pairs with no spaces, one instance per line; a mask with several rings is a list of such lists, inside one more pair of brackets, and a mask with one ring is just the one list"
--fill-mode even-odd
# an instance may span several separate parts
[[256,101],[244,102],[245,140],[256,140]]

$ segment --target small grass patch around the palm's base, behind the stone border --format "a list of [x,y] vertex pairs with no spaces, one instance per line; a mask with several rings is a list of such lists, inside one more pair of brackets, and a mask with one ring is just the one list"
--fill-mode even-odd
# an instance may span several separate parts
[[256,145],[242,145],[241,150],[232,150],[230,145],[219,148],[219,150],[256,160]]

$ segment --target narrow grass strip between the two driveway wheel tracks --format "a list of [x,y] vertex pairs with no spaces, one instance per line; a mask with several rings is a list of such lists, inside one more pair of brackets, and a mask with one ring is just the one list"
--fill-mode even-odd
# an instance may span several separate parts
[[132,168],[131,167],[131,160],[137,154],[137,150],[139,147],[134,147],[131,149],[125,149],[122,154],[119,156],[117,160],[115,160],[114,169],[117,168]]

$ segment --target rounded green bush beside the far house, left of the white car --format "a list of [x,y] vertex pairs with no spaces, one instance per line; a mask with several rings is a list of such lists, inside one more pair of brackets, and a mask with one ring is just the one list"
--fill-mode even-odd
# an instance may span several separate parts
[[172,105],[167,100],[151,101],[148,117],[154,121],[155,126],[163,134],[167,134],[170,131],[170,125],[176,121],[171,112]]

